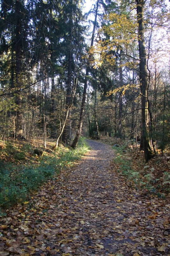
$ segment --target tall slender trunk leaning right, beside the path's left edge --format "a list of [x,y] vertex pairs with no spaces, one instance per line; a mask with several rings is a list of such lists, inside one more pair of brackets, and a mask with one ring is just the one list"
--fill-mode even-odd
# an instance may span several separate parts
[[[96,4],[96,12],[95,12],[95,19],[94,19],[94,23],[93,23],[92,40],[91,40],[91,44],[90,44],[91,47],[93,46],[93,43],[94,43],[94,33],[95,33],[95,30],[96,30],[96,24],[97,24],[98,7],[99,7],[99,0],[97,0],[97,4]],[[90,54],[89,54],[89,57],[90,57]],[[83,118],[84,118],[84,110],[85,110],[85,99],[86,99],[86,94],[87,94],[87,81],[88,81],[87,76],[89,75],[89,71],[90,71],[90,63],[88,61],[87,62],[86,73],[85,73],[83,97],[82,97],[82,102],[81,102],[81,110],[80,110],[80,116],[79,116],[79,121],[78,121],[78,128],[77,128],[75,138],[74,138],[74,140],[71,144],[72,148],[77,147],[78,140],[79,140],[80,135],[81,135],[82,125],[83,125]]]

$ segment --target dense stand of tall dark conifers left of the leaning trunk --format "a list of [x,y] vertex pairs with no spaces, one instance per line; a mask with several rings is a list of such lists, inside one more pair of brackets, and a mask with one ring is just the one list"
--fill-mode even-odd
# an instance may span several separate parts
[[6,104],[5,122],[10,115],[11,129],[4,134],[42,135],[45,146],[46,136],[60,134],[75,84],[80,85],[82,6],[76,0],[4,0],[1,7],[1,95],[7,94],[4,102],[13,100]]

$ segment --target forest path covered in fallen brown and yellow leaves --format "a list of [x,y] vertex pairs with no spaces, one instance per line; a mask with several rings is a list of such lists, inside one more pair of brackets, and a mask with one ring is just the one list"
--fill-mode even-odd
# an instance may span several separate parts
[[77,165],[1,217],[0,255],[170,255],[170,206],[113,168],[110,145],[88,140]]

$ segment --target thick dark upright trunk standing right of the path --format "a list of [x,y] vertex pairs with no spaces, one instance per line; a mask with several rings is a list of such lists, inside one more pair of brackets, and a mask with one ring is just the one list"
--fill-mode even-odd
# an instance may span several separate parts
[[145,161],[153,157],[152,150],[149,144],[148,136],[148,101],[147,101],[147,66],[146,66],[146,50],[145,50],[145,35],[144,35],[144,0],[136,0],[137,4],[137,22],[138,22],[138,43],[139,43],[139,78],[141,91],[141,106],[142,106],[142,139],[144,147]]

